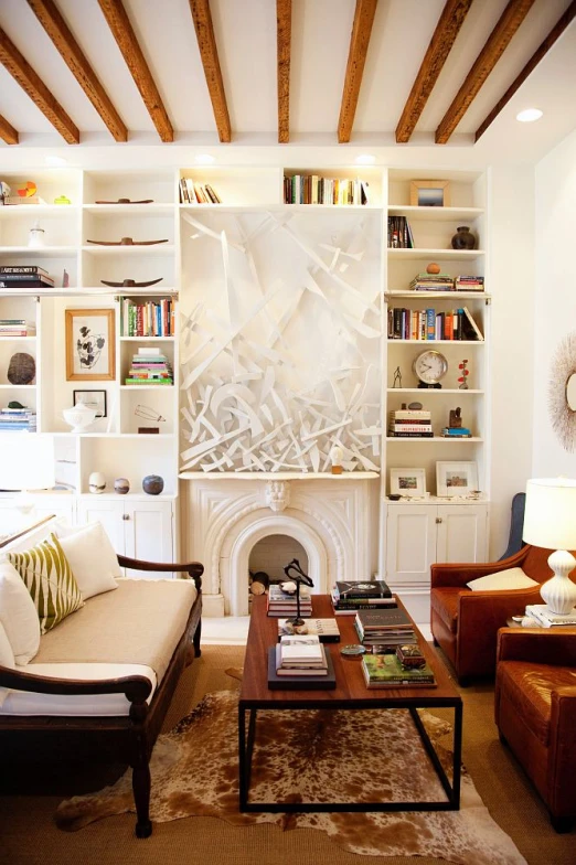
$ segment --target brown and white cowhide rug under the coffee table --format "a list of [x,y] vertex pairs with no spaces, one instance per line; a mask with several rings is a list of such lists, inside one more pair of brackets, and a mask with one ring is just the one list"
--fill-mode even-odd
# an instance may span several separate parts
[[[442,763],[450,725],[420,712]],[[451,740],[449,737],[448,740]],[[318,829],[352,853],[430,856],[462,865],[520,865],[525,859],[494,823],[463,770],[460,811],[401,813],[241,814],[237,694],[207,694],[171,731],[151,760],[152,821],[216,816],[238,826],[275,823]],[[405,709],[258,712],[250,801],[405,801],[445,798]],[[56,811],[61,829],[77,830],[134,811],[131,771],[99,793],[74,797]]]

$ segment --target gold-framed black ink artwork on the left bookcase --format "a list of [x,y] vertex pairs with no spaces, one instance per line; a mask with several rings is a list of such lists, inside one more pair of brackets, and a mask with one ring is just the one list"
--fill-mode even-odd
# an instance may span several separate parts
[[114,381],[114,309],[66,310],[66,381]]

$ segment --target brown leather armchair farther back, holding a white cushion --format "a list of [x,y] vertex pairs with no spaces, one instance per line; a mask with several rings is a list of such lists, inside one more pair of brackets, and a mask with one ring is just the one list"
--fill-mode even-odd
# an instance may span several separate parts
[[[467,583],[477,577],[521,567],[537,583],[552,577],[547,559],[552,549],[524,546],[500,562],[473,565],[433,565],[430,570],[430,628],[436,645],[454,664],[461,685],[472,676],[493,676],[499,628],[510,616],[522,615],[526,604],[543,604],[540,589],[472,591]],[[570,575],[574,578],[574,572]]]

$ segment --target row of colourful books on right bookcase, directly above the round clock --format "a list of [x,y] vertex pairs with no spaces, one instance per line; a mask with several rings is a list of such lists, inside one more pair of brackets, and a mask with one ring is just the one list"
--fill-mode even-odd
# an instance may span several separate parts
[[470,310],[460,307],[447,312],[435,309],[390,307],[387,312],[388,340],[466,340],[483,341],[483,334]]

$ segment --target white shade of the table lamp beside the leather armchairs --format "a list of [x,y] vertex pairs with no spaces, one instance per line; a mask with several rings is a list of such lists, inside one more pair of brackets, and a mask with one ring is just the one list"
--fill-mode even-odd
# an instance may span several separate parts
[[527,481],[522,538],[545,549],[576,549],[576,480]]

